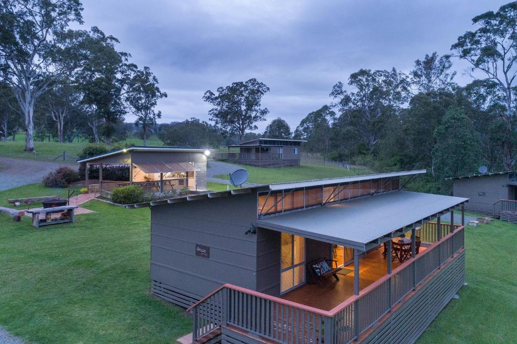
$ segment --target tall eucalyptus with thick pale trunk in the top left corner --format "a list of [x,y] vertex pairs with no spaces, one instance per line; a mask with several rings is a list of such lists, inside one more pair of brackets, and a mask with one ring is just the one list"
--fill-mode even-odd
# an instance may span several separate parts
[[2,0],[0,77],[14,89],[25,119],[25,151],[34,151],[34,106],[56,81],[79,68],[79,0]]

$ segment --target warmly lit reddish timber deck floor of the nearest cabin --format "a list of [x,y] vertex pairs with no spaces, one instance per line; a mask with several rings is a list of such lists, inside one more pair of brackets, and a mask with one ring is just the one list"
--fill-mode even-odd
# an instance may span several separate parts
[[[423,250],[425,250],[425,247],[422,244],[420,253]],[[382,252],[383,248],[381,247],[360,258],[360,289],[366,288],[386,274],[388,263]],[[391,264],[392,269],[400,264],[399,260],[394,259]],[[345,266],[344,269],[352,270],[352,272],[346,275],[338,274],[339,281],[334,280],[332,276],[328,277],[325,280],[324,288],[321,288],[318,284],[306,284],[284,294],[281,298],[323,310],[330,310],[354,294],[354,265]],[[343,270],[341,273],[346,273]]]

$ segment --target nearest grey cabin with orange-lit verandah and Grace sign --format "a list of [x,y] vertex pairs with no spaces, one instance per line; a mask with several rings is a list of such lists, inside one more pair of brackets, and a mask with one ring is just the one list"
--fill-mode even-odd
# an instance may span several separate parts
[[414,342],[465,278],[468,200],[403,190],[424,172],[127,207],[150,207],[151,290],[188,307],[195,342]]

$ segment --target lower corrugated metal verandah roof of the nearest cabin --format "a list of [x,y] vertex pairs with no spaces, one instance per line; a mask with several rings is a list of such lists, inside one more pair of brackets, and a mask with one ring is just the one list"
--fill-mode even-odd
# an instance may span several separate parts
[[256,225],[364,250],[373,240],[467,201],[460,197],[392,191],[265,217],[257,220]]

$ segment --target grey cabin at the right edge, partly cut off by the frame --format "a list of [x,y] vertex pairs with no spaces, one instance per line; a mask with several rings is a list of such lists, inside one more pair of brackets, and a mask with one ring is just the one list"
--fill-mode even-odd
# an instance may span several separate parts
[[505,171],[446,178],[452,194],[469,199],[465,209],[517,223],[517,172]]

